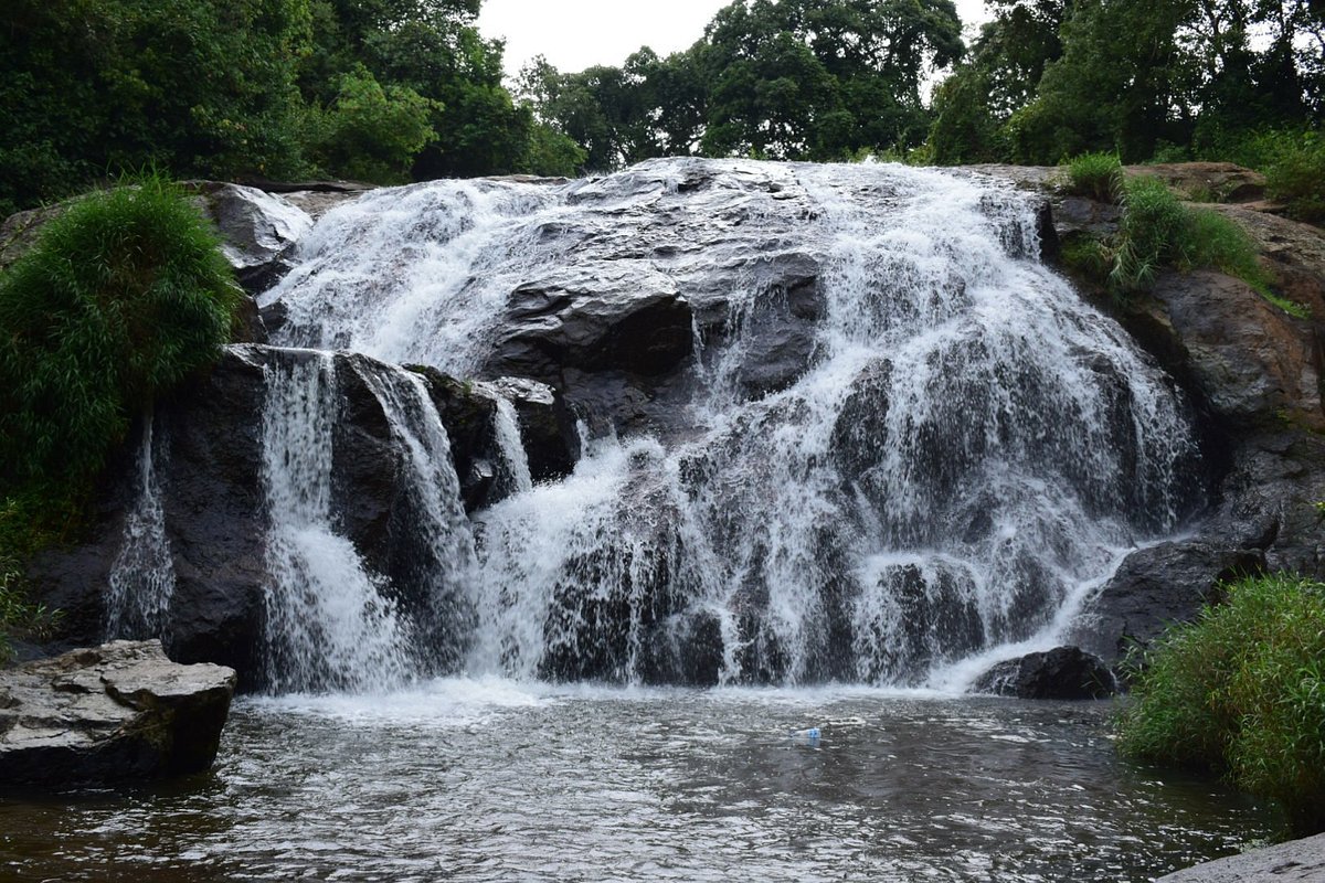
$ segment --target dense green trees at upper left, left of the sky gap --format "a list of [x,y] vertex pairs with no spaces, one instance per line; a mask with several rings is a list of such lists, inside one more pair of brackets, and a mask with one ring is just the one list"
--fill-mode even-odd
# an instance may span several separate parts
[[398,181],[572,173],[480,0],[8,0],[0,212],[122,169]]

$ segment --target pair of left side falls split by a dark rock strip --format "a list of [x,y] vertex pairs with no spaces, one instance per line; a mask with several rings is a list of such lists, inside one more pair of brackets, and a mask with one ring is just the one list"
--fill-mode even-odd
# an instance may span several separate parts
[[[445,633],[472,609],[474,548],[460,503],[450,443],[424,380],[384,364],[350,365],[382,408],[404,500],[395,541],[409,559],[398,585],[372,572],[333,514],[334,428],[341,413],[335,357],[286,351],[264,368],[262,477],[268,496],[269,663],[277,692],[363,691],[453,665]],[[352,504],[352,503],[351,503]],[[404,610],[401,590],[423,597]],[[433,629],[436,624],[444,627]],[[468,630],[468,629],[465,629]]]

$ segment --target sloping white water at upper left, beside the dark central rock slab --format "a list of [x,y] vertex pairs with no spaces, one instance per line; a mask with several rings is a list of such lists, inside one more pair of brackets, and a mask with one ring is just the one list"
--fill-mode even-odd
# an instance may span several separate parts
[[258,304],[285,308],[282,344],[469,376],[529,266],[522,256],[542,254],[529,218],[554,197],[550,188],[482,180],[368,193],[301,240],[303,262]]

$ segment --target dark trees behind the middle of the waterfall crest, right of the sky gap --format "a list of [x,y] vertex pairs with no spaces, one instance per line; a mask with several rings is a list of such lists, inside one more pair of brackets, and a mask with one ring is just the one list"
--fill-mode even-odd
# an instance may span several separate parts
[[645,48],[568,74],[539,61],[521,91],[590,168],[677,154],[843,159],[920,143],[924,83],[962,50],[951,0],[737,0],[686,52]]

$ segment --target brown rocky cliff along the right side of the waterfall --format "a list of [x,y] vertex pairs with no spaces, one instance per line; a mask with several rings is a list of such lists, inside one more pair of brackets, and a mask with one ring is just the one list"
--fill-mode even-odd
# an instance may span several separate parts
[[[1051,169],[990,168],[1053,204],[1057,232],[1106,234],[1117,209],[1055,195]],[[1117,663],[1167,622],[1190,620],[1238,576],[1291,571],[1325,577],[1325,234],[1273,213],[1264,181],[1219,163],[1136,167],[1238,221],[1261,250],[1297,318],[1240,279],[1165,273],[1149,297],[1101,302],[1186,389],[1203,428],[1210,507],[1181,540],[1129,556],[1076,629],[1081,646]]]

